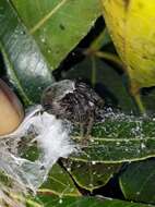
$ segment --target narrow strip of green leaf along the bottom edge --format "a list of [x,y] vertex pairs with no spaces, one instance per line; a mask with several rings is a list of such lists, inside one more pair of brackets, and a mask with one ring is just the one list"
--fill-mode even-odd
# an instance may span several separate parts
[[97,197],[56,197],[50,195],[40,195],[36,198],[40,205],[34,203],[31,205],[31,199],[27,200],[28,207],[44,207],[44,206],[52,206],[52,207],[153,207],[151,205],[145,204],[136,204],[124,200],[117,200],[111,198],[97,198]]

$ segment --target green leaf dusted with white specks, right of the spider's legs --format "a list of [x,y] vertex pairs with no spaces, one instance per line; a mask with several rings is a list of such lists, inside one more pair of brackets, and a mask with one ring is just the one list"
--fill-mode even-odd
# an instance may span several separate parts
[[155,157],[154,119],[138,119],[112,112],[104,115],[104,122],[94,125],[87,143],[79,132],[74,132],[73,138],[81,151],[72,155],[71,159],[116,163]]

